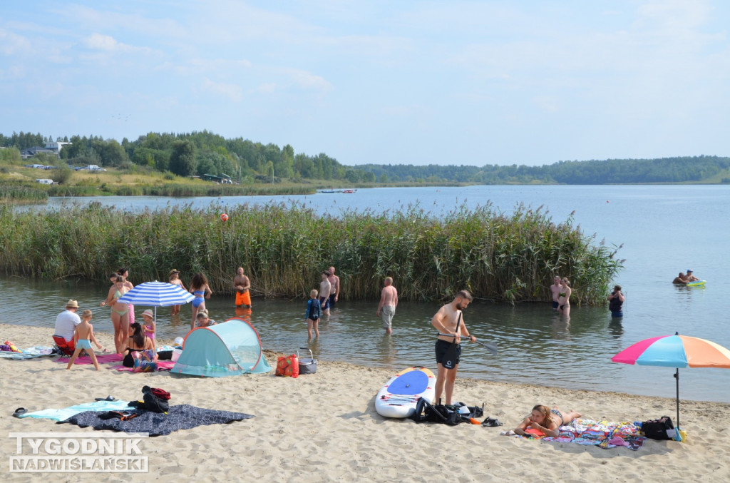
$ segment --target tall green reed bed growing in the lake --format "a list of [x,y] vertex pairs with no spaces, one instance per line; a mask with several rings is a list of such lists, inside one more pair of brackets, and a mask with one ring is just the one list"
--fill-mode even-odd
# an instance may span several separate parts
[[437,217],[418,206],[320,217],[302,205],[166,208],[129,213],[98,203],[61,212],[0,210],[0,270],[47,279],[89,278],[129,267],[131,281],[185,283],[204,272],[214,292],[231,292],[241,265],[253,294],[308,297],[320,271],[337,267],[342,298],[380,297],[390,275],[401,300],[448,300],[466,288],[478,299],[551,300],[553,275],[567,276],[574,303],[604,303],[622,260],[572,224],[541,210],[491,206]]

